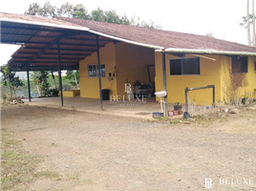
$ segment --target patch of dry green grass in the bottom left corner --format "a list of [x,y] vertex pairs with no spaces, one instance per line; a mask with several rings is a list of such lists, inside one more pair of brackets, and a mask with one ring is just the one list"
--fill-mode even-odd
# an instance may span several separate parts
[[11,138],[3,129],[0,138],[0,190],[18,190],[19,185],[34,179],[34,168],[40,158],[23,151],[22,140]]

